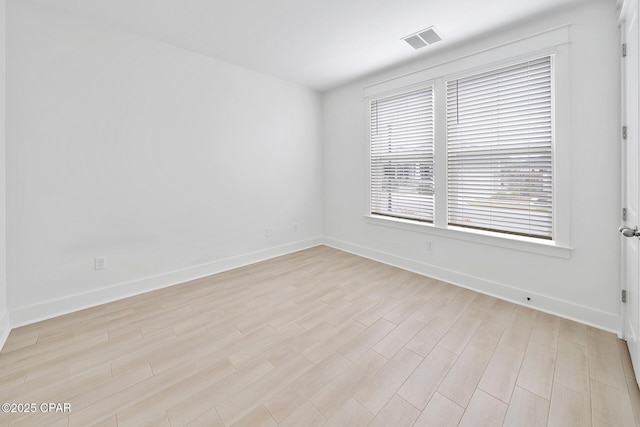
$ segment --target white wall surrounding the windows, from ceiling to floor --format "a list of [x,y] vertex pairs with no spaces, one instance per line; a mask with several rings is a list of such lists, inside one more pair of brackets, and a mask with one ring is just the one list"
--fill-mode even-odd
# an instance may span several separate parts
[[[366,221],[364,88],[570,24],[569,259],[415,233]],[[615,2],[595,0],[515,23],[329,91],[325,106],[325,235],[329,244],[462,286],[620,332],[619,46]],[[482,64],[477,64],[482,65]],[[426,241],[433,250],[426,250]]]

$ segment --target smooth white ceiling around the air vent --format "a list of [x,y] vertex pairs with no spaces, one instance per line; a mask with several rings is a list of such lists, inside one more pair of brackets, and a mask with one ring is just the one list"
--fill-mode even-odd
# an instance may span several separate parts
[[[528,17],[588,0],[37,0],[326,90]],[[435,25],[443,41],[402,37]]]

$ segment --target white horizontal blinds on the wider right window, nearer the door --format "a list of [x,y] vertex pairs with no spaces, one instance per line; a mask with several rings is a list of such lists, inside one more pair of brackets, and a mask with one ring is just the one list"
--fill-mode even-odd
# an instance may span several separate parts
[[448,222],[552,239],[551,57],[447,82]]

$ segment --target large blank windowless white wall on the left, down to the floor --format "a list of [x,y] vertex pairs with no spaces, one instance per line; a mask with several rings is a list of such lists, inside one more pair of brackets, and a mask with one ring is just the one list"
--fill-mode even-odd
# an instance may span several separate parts
[[318,94],[30,1],[7,17],[12,326],[320,241]]

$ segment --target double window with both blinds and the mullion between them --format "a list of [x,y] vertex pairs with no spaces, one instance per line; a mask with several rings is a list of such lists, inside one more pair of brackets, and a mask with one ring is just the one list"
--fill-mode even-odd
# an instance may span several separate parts
[[370,97],[370,214],[553,240],[552,60]]

